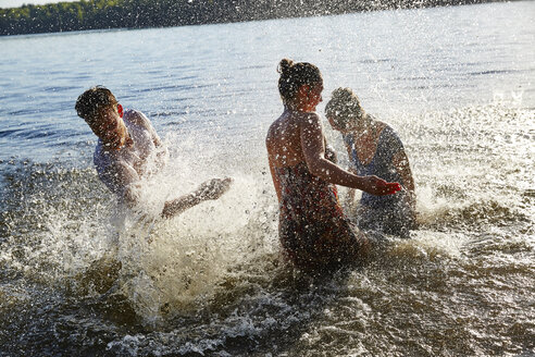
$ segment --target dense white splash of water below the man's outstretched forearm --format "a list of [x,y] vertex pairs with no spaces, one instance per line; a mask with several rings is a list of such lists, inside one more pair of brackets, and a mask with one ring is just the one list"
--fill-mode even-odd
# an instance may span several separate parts
[[[132,279],[126,296],[145,318],[172,317],[202,306],[229,269],[276,248],[274,224],[266,224],[273,219],[259,205],[254,182],[234,180],[234,188],[217,201],[169,221],[129,218],[134,222],[121,234],[119,257],[123,274]],[[269,211],[274,217],[275,211]]]

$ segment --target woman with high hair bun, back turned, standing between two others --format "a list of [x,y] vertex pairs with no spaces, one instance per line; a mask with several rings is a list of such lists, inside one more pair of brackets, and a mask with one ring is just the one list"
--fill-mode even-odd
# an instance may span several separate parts
[[265,143],[284,251],[302,269],[357,261],[368,241],[344,216],[335,184],[372,195],[390,195],[400,186],[376,176],[358,176],[332,161],[315,112],[323,90],[315,65],[284,59],[278,72],[284,112],[270,126]]

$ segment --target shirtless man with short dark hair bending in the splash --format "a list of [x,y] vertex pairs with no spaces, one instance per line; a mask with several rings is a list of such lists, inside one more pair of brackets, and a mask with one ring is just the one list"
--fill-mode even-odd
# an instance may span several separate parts
[[[94,162],[100,180],[120,202],[138,201],[141,178],[165,164],[167,150],[150,121],[139,111],[125,110],[104,87],[92,87],[76,100],[76,112],[99,138]],[[217,199],[231,187],[232,178],[212,178],[190,194],[164,204],[161,216],[171,218],[208,199]]]

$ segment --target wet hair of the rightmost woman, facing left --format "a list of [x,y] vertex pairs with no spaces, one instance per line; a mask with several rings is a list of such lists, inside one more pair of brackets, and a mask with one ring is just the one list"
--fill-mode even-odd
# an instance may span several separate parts
[[346,130],[360,121],[364,110],[351,88],[337,88],[325,106],[325,115],[333,120],[337,128]]

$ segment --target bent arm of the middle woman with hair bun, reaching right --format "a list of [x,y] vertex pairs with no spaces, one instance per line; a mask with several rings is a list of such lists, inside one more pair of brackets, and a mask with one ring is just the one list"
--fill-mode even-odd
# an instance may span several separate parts
[[372,195],[390,195],[399,190],[399,184],[387,183],[377,176],[358,176],[325,159],[325,144],[320,116],[310,113],[301,122],[301,147],[310,172],[327,182],[362,189]]

